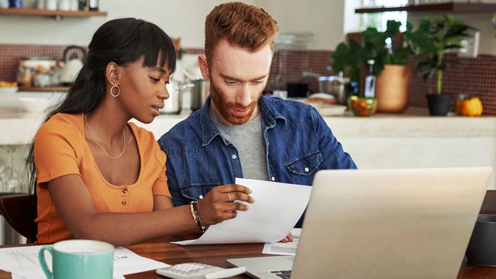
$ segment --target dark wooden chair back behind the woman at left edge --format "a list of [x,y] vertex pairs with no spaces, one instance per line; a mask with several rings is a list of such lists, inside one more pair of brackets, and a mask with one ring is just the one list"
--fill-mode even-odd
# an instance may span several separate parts
[[0,197],[0,214],[28,243],[36,241],[38,234],[36,197],[29,194]]

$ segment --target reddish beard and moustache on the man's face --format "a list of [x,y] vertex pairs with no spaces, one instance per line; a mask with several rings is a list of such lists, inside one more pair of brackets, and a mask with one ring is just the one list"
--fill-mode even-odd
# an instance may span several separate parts
[[[227,102],[227,94],[216,86],[215,81],[210,78],[210,98],[212,98],[212,102],[215,104],[215,107],[226,121],[232,125],[241,125],[248,122],[252,117],[255,107],[257,106],[258,99],[260,99],[260,95],[258,95],[257,100],[254,100],[246,107],[236,102]],[[237,116],[230,113],[230,109],[247,110],[248,113],[244,116]]]

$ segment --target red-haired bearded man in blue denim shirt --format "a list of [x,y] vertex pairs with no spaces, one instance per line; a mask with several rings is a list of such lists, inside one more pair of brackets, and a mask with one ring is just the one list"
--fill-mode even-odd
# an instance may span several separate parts
[[174,205],[236,177],[312,185],[320,169],[356,168],[315,108],[261,96],[277,31],[269,14],[244,3],[207,16],[198,62],[210,97],[159,139]]

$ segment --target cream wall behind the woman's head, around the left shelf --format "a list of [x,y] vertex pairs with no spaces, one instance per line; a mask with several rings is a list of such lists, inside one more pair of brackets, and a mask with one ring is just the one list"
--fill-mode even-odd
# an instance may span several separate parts
[[[142,18],[162,27],[171,37],[181,37],[185,47],[202,47],[205,17],[220,0],[101,0],[107,17],[69,18],[0,15],[0,44],[88,45],[104,22],[121,17]],[[243,1],[253,4],[253,0]],[[24,6],[33,6],[24,0]]]

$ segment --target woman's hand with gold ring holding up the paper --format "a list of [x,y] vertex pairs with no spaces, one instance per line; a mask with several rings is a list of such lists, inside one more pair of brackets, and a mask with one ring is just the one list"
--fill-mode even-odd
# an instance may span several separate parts
[[203,226],[233,219],[236,217],[236,210],[248,210],[247,205],[234,203],[234,201],[255,202],[255,199],[248,195],[250,193],[252,193],[252,190],[238,184],[212,188],[203,199],[196,203],[198,215],[200,215]]

